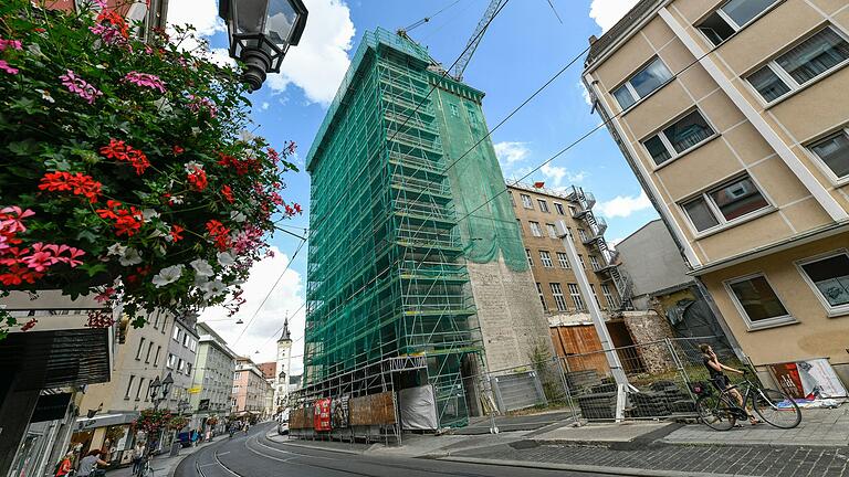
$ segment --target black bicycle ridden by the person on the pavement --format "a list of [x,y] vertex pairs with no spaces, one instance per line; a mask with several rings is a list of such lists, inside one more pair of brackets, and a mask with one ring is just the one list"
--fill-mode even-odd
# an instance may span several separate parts
[[[719,394],[714,394],[714,391],[717,390],[712,384],[703,382],[693,383],[693,393],[699,396],[695,400],[699,421],[715,431],[729,431],[734,427],[737,420],[748,420],[745,404],[751,402],[752,409],[754,409],[757,415],[765,423],[774,427],[789,430],[799,425],[801,422],[801,411],[793,398],[788,396],[784,391],[763,388],[759,383],[750,381],[746,378],[747,374],[748,371],[744,371],[743,382],[720,391]],[[729,393],[733,389],[741,391],[743,396],[742,407]]]

